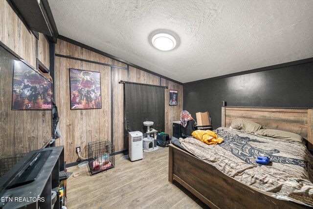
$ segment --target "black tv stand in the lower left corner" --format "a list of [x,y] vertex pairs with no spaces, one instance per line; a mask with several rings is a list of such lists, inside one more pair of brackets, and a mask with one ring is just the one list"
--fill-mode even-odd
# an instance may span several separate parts
[[[31,151],[24,159],[29,159],[38,151]],[[60,209],[59,195],[52,208],[51,191],[59,188],[59,171],[63,171],[64,147],[45,148],[32,165],[1,195],[0,209]],[[11,173],[23,165],[23,159],[8,171],[0,181],[5,181]],[[0,201],[2,201],[0,200]]]

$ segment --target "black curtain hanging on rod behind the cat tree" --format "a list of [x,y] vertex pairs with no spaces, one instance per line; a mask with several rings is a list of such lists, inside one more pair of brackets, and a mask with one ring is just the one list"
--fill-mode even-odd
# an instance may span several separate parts
[[147,127],[144,121],[153,121],[152,128],[158,132],[164,131],[164,87],[145,84],[125,83],[125,142],[128,148],[128,132],[140,131],[145,133]]

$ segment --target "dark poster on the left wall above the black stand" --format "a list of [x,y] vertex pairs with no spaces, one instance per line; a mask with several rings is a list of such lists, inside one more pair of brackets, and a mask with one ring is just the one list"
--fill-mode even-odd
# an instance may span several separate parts
[[20,60],[14,60],[12,110],[51,110],[52,83]]

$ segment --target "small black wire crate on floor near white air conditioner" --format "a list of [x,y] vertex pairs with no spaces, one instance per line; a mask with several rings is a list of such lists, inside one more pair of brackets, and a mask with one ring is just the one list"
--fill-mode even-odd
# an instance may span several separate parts
[[114,145],[109,141],[88,143],[88,164],[91,175],[115,166]]

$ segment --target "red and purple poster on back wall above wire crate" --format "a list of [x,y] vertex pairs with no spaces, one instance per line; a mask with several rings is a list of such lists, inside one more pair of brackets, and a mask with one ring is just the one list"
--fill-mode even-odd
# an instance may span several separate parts
[[101,109],[100,72],[69,69],[70,109]]

